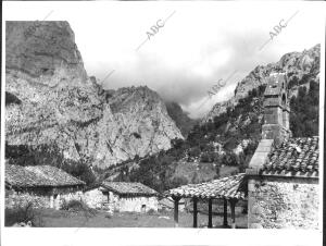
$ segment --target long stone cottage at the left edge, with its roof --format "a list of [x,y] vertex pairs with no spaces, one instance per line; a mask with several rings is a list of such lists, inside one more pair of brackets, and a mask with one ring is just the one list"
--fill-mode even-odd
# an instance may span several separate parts
[[62,202],[82,199],[85,183],[51,165],[5,164],[5,207],[32,201],[35,207],[59,209]]

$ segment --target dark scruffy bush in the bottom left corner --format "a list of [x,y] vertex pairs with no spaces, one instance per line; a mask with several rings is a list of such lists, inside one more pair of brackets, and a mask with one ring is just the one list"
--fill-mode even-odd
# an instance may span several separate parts
[[7,208],[4,212],[4,225],[12,226],[15,223],[28,223],[32,222],[33,226],[43,226],[41,217],[34,209],[33,202],[26,205],[16,206],[14,208]]

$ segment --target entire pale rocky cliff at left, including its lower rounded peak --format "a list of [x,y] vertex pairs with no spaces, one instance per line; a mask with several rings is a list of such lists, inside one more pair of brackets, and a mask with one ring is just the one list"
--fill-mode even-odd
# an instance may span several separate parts
[[148,87],[105,91],[87,76],[67,22],[7,22],[5,140],[54,144],[105,168],[183,138]]

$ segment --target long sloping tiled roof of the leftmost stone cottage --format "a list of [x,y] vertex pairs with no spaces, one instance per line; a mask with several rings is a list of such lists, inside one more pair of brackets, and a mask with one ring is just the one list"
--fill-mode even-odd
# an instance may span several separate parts
[[11,187],[59,187],[84,185],[83,181],[51,165],[5,164],[5,184]]

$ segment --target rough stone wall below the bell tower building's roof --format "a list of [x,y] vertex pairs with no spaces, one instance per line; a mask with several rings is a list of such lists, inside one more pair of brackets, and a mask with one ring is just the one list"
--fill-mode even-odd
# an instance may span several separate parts
[[318,229],[318,182],[298,177],[252,177],[248,227]]

